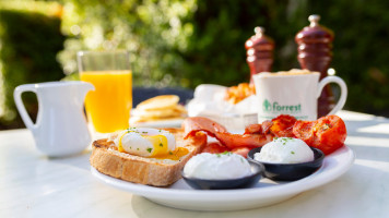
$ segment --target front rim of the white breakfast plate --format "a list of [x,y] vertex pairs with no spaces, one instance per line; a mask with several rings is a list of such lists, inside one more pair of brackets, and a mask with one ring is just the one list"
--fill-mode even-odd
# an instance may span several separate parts
[[[304,191],[308,191],[320,185],[327,184],[345,173],[355,159],[354,152],[343,146],[333,154],[325,158],[323,165],[316,172],[307,178],[282,183],[272,186],[255,186],[249,189],[237,190],[193,190],[188,186],[184,189],[154,187],[143,184],[122,181],[98,172],[91,167],[91,172],[104,183],[130,192],[134,195],[144,196],[150,199],[166,199],[166,201],[186,201],[199,202],[207,199],[208,202],[231,202],[231,201],[258,201],[266,198],[274,198],[282,196],[293,196]],[[182,180],[182,179],[180,179]],[[181,206],[180,206],[181,207]]]

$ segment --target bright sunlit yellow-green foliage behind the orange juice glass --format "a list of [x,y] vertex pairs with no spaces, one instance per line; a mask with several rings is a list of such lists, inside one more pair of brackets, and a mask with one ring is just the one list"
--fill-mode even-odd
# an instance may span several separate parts
[[193,0],[66,0],[63,5],[62,31],[69,38],[59,58],[67,74],[76,73],[79,50],[125,48],[134,85],[181,85]]

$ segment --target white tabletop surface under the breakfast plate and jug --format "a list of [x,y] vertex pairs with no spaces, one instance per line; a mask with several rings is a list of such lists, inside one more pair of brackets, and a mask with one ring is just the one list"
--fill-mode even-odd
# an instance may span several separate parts
[[389,217],[389,120],[341,111],[356,159],[339,179],[285,202],[190,211],[110,187],[91,174],[90,149],[49,159],[28,130],[0,131],[0,217]]

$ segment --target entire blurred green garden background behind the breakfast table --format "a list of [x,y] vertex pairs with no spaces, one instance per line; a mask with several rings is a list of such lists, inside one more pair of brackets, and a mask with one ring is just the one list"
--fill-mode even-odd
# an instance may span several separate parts
[[[389,116],[389,64],[386,52],[389,48],[389,2],[386,1],[23,2],[38,5],[36,8],[57,3],[62,7],[60,13],[54,13],[56,16],[52,13],[40,14],[39,17],[46,17],[46,22],[35,19],[37,14],[28,10],[16,10],[20,16],[24,16],[23,21],[17,21],[17,25],[12,23],[14,20],[2,15],[0,61],[5,93],[12,93],[15,85],[27,82],[76,77],[75,52],[82,49],[129,50],[137,86],[194,88],[202,83],[236,85],[248,81],[244,44],[254,35],[254,27],[263,26],[275,41],[273,71],[290,70],[299,68],[294,41],[296,33],[309,24],[307,17],[310,14],[320,14],[320,23],[335,34],[331,68],[347,83],[345,109]],[[5,13],[7,7],[2,5],[0,14]],[[50,10],[42,11],[47,13]],[[7,28],[7,25],[15,29]],[[8,38],[10,29],[22,34],[12,36],[11,40]],[[27,37],[25,39],[22,36]],[[40,57],[44,62],[36,59],[31,59],[31,62],[43,65],[30,68],[22,61],[23,52],[16,48],[28,50],[28,57]],[[14,56],[3,55],[8,50],[13,50]],[[20,80],[7,77],[7,72],[11,71]],[[42,73],[42,76],[34,77],[37,73]],[[10,100],[7,105],[9,111],[14,111]],[[0,122],[4,123],[4,120],[17,121],[17,117],[3,117]]]

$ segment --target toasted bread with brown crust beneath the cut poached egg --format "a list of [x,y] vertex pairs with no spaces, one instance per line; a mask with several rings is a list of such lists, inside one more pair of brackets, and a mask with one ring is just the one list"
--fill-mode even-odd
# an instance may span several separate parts
[[185,147],[189,153],[179,160],[145,158],[120,153],[108,138],[93,142],[90,162],[99,172],[129,182],[153,186],[168,186],[181,178],[185,164],[199,154],[207,145],[207,135],[197,135],[184,140],[184,130],[163,129],[175,135],[176,146]]

